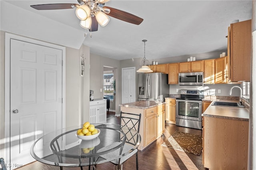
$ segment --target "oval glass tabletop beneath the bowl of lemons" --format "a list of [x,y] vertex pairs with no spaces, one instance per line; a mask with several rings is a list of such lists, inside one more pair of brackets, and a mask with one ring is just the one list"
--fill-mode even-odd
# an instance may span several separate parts
[[[107,123],[93,125],[100,129],[100,134],[96,138],[91,140],[77,138],[76,131],[83,125],[63,128],[36,140],[31,146],[30,153],[33,158],[45,164],[88,166],[126,156],[140,144],[140,134],[136,130]],[[124,145],[129,149],[122,150]]]

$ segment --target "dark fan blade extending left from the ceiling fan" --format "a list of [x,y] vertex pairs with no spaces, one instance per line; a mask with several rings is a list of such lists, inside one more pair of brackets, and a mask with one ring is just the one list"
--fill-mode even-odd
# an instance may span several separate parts
[[41,5],[30,5],[36,10],[62,10],[62,9],[72,9],[74,6],[79,6],[79,4],[41,4]]

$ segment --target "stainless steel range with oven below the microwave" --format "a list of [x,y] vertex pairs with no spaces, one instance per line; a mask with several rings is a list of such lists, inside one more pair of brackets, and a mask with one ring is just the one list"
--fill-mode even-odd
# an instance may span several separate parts
[[180,90],[176,98],[176,125],[202,129],[202,99],[204,91]]

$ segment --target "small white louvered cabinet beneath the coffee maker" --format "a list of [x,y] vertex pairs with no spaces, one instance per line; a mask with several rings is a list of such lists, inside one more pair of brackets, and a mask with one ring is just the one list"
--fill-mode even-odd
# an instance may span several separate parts
[[107,100],[90,101],[90,123],[107,123]]

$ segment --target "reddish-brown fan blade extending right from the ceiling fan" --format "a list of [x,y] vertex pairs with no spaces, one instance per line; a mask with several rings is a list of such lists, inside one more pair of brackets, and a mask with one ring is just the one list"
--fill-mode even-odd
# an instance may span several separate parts
[[110,13],[107,14],[107,15],[112,16],[116,19],[125,21],[125,22],[129,22],[131,24],[140,25],[140,23],[142,23],[142,21],[143,21],[143,19],[138,17],[138,16],[135,16],[135,15],[130,14],[128,12],[124,12],[122,10],[118,10],[116,8],[112,8],[112,7],[109,7],[109,6],[103,6],[103,8],[110,9]]

